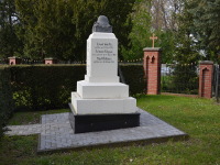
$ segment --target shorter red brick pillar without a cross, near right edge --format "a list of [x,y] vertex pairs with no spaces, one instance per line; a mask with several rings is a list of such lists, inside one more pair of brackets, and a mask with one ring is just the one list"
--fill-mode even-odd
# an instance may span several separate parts
[[212,74],[213,62],[205,61],[199,63],[199,97],[212,97]]

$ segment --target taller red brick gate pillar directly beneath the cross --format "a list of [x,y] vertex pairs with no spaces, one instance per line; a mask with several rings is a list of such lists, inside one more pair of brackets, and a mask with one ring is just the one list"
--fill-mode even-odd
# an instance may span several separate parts
[[161,92],[161,53],[158,47],[146,47],[144,51],[144,73],[146,78],[146,94]]

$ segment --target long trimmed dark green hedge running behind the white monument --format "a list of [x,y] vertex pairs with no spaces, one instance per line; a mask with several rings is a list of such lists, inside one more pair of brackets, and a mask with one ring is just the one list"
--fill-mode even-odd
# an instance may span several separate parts
[[[11,68],[16,110],[45,110],[67,107],[76,82],[82,80],[86,65],[18,65]],[[121,65],[130,95],[144,92],[142,65]]]

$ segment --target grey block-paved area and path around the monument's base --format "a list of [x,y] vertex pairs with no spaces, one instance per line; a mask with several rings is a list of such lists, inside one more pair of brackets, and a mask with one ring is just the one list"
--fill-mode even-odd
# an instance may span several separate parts
[[38,152],[135,141],[157,142],[160,139],[188,136],[185,132],[144,110],[139,109],[139,112],[141,113],[141,125],[138,128],[75,134],[68,121],[69,113],[57,113],[42,116],[41,124],[8,127],[11,131],[8,131],[7,134],[40,133]]

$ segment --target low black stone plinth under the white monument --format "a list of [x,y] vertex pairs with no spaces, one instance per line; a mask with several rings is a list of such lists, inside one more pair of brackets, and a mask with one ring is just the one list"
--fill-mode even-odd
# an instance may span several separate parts
[[140,127],[140,113],[76,114],[72,103],[69,107],[69,122],[75,133]]

